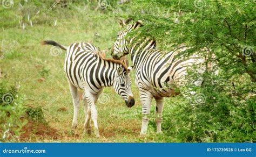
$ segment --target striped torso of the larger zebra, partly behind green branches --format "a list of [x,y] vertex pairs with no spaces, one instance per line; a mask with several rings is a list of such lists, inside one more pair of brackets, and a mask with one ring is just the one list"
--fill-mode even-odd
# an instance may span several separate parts
[[[134,56],[136,63],[136,84],[150,90],[154,95],[169,97],[175,95],[174,85],[181,85],[187,75],[187,68],[204,63],[205,60],[193,55],[183,58],[180,53],[187,47],[179,47],[171,52],[151,49],[141,56]],[[136,58],[140,60],[135,61]],[[201,67],[202,72],[205,67]]]

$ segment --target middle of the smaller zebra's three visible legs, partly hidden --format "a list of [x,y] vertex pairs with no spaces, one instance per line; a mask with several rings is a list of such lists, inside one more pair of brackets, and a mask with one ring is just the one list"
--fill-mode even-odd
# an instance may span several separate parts
[[91,134],[91,110],[90,108],[88,108],[88,103],[84,96],[83,96],[83,102],[84,102],[84,115],[85,115],[85,122],[84,122],[83,129],[87,134]]

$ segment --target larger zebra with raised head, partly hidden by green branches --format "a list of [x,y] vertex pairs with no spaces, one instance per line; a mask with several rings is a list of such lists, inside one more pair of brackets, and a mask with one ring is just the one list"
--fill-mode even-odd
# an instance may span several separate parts
[[[185,45],[170,52],[163,52],[156,47],[156,41],[150,38],[143,40],[135,40],[136,37],[129,36],[126,38],[127,33],[143,26],[140,20],[132,24],[128,24],[129,22],[130,20],[119,19],[119,25],[125,26],[125,28],[118,32],[111,55],[114,59],[119,59],[127,54],[131,56],[133,68],[136,70],[135,82],[142,103],[140,135],[145,135],[147,132],[153,98],[156,100],[157,133],[160,133],[164,97],[179,94],[176,89],[184,86],[188,68],[192,65],[202,65],[206,60],[197,55],[192,55],[188,59],[180,58],[180,54],[191,48]],[[205,66],[197,69],[200,74],[204,73],[205,70]],[[202,82],[203,80],[199,79],[193,83],[200,85]]]

